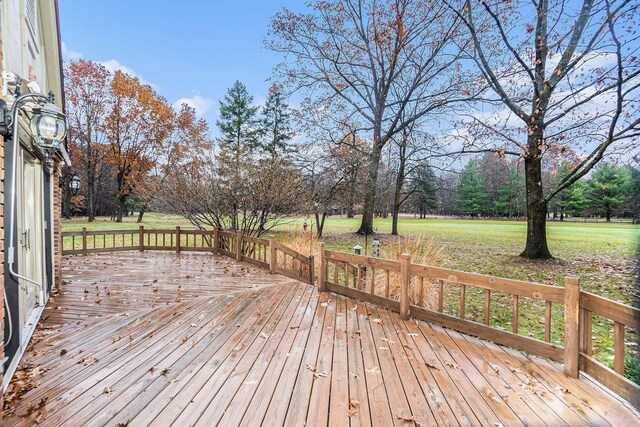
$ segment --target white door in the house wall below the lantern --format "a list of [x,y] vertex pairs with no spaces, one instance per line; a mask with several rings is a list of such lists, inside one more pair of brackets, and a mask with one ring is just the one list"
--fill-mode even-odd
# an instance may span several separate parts
[[[41,286],[44,278],[44,218],[42,164],[24,150],[20,150],[18,163],[21,176],[18,177],[18,273]],[[38,303],[40,289],[33,283],[20,280],[20,323],[21,330],[34,327],[32,318]],[[23,337],[26,338],[23,334]]]

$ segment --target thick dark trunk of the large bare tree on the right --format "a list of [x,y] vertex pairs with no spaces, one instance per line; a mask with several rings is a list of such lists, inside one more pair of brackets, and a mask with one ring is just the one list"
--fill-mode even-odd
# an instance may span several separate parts
[[[542,190],[542,162],[538,141],[542,131],[529,136],[530,152],[524,161],[525,184],[527,189],[527,242],[520,256],[529,259],[552,258],[547,246],[547,203]],[[531,141],[533,140],[533,144]]]

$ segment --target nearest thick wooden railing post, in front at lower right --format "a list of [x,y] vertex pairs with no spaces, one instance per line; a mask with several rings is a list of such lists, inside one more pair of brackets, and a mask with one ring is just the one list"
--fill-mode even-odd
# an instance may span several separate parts
[[578,378],[580,363],[580,279],[564,279],[564,374]]

